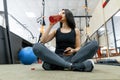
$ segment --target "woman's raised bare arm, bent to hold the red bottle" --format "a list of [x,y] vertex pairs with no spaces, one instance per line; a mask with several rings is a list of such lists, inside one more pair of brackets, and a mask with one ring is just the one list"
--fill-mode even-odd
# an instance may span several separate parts
[[55,37],[56,30],[54,30],[54,31],[52,31],[52,32],[50,33],[53,25],[54,25],[54,24],[51,24],[51,23],[50,23],[49,27],[48,27],[48,28],[46,29],[46,31],[43,33],[43,35],[42,35],[42,37],[41,37],[41,40],[40,40],[41,43],[43,43],[43,44],[44,44],[44,43],[47,43],[47,42],[49,42],[50,40],[52,40],[52,39]]

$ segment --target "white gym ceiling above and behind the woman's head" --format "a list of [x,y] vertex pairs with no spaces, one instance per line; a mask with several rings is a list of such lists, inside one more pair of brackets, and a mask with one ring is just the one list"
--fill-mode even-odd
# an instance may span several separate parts
[[[2,0],[0,0],[0,3]],[[37,19],[43,13],[43,0],[7,0],[8,13],[13,15],[18,21],[25,25],[34,36],[38,36],[40,23]],[[89,15],[92,15],[99,0],[87,0]],[[85,16],[85,0],[45,0],[45,22],[49,24],[48,17],[57,14],[61,9],[70,9],[74,16]],[[31,17],[27,13],[33,13]],[[76,22],[79,24],[79,19]],[[85,20],[81,21],[83,25]]]

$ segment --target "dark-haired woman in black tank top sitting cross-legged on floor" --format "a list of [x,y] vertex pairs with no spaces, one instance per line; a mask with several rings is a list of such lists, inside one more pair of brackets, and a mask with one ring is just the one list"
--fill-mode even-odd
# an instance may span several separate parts
[[[50,33],[56,23],[51,23],[41,37],[41,43],[33,46],[36,56],[44,61],[45,70],[64,70],[91,72],[94,68],[91,59],[98,49],[96,41],[86,43],[80,48],[80,31],[75,26],[73,14],[68,9],[59,13],[62,16],[60,27]],[[55,53],[44,46],[45,43],[56,38]]]

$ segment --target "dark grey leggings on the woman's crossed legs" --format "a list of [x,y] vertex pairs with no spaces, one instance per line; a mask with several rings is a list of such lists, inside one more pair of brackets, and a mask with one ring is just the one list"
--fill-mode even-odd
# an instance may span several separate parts
[[35,55],[45,62],[43,68],[49,67],[51,69],[70,68],[73,63],[82,63],[87,59],[91,59],[96,54],[97,49],[98,43],[90,41],[81,47],[75,55],[59,56],[41,43],[36,43],[33,46]]

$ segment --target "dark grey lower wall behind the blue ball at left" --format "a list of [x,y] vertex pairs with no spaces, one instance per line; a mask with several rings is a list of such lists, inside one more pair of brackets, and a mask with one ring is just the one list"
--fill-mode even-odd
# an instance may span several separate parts
[[[6,29],[0,26],[0,64],[11,64],[9,55],[9,47],[6,41]],[[21,48],[32,46],[32,43],[22,39],[21,37],[10,32],[11,50],[13,56],[13,63],[19,63],[18,52]]]

